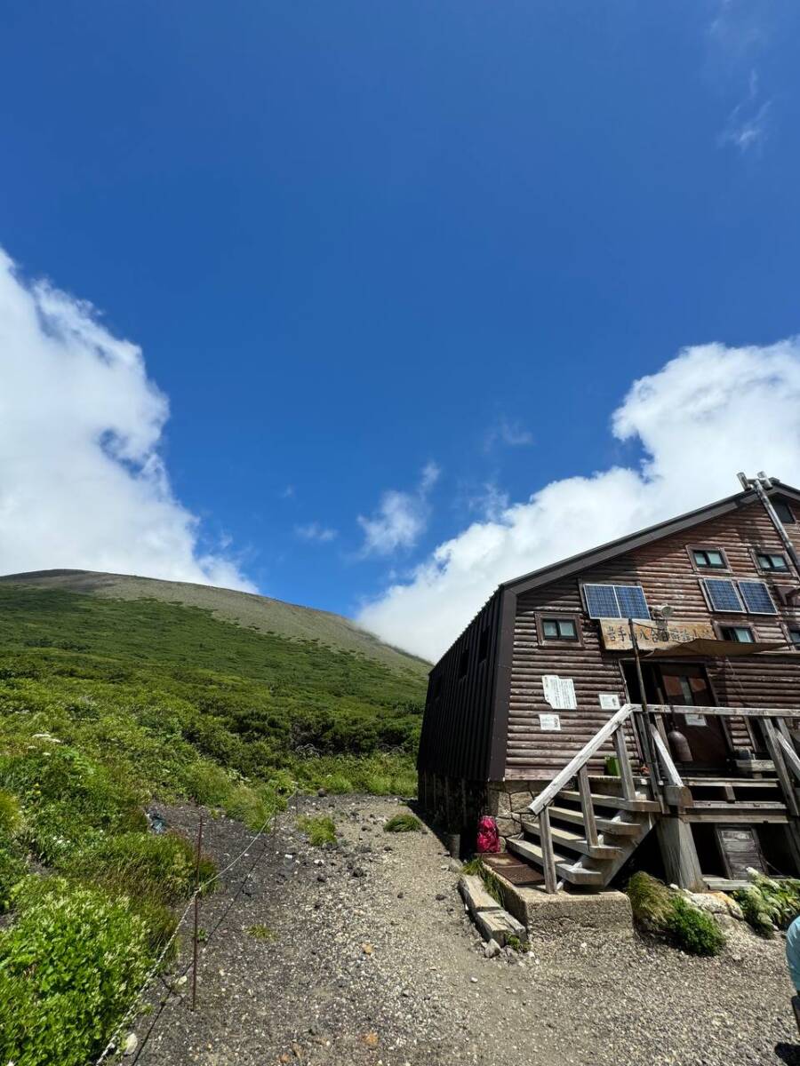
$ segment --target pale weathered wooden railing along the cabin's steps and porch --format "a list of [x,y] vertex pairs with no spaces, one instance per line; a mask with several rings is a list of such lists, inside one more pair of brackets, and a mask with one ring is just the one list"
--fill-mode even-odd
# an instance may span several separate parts
[[[539,838],[542,849],[544,887],[546,892],[558,888],[556,859],[553,851],[549,808],[559,792],[577,778],[580,809],[583,818],[586,840],[597,843],[597,827],[592,806],[589,782],[589,761],[609,741],[613,742],[619,763],[620,785],[625,800],[638,798],[630,756],[625,742],[624,727],[631,722],[642,753],[651,752],[653,765],[649,768],[652,798],[662,812],[670,804],[677,802],[688,790],[670,754],[665,716],[673,714],[702,714],[704,716],[729,716],[752,718],[759,723],[764,741],[774,765],[784,802],[788,812],[800,817],[793,778],[800,784],[800,756],[795,748],[787,721],[794,721],[800,728],[800,710],[784,710],[772,707],[694,707],[684,705],[656,704],[646,709],[640,704],[626,704],[617,711],[592,739],[575,755],[530,804],[529,810],[539,819]],[[650,798],[650,797],[649,797]]]

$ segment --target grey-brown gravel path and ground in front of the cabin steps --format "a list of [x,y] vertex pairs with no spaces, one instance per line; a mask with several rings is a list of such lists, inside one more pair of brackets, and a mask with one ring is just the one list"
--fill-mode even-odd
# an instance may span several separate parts
[[[124,1061],[800,1066],[782,940],[741,932],[719,958],[699,959],[640,938],[561,936],[487,959],[438,839],[383,831],[405,809],[369,796],[303,801],[301,812],[335,819],[335,849],[310,847],[294,812],[284,815],[203,904],[197,1011],[189,983],[155,987]],[[194,810],[164,814],[195,831]],[[236,822],[208,824],[221,866],[247,840]]]

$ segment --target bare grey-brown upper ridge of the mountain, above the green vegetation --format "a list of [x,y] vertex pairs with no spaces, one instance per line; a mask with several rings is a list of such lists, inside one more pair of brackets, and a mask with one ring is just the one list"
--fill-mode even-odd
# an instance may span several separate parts
[[0,584],[28,585],[33,588],[54,588],[82,593],[108,599],[156,599],[166,603],[204,608],[214,617],[250,626],[261,633],[319,641],[329,647],[358,651],[370,659],[398,671],[428,674],[431,664],[383,644],[372,633],[361,629],[349,618],[330,611],[285,603],[268,596],[255,596],[231,588],[213,588],[182,581],[158,581],[123,574],[100,574],[93,570],[33,570],[0,577]]

